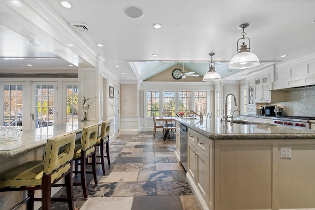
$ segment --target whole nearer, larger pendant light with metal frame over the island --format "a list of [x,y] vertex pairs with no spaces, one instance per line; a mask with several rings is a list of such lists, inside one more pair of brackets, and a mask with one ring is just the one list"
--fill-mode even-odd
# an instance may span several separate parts
[[245,69],[245,68],[254,67],[260,64],[257,56],[250,52],[251,40],[245,37],[246,33],[244,32],[244,29],[247,28],[248,26],[249,26],[248,23],[245,23],[239,26],[239,29],[243,29],[243,32],[242,32],[243,38],[240,38],[239,40],[248,39],[250,46],[247,47],[245,42],[243,42],[243,44],[240,46],[240,49],[238,49],[239,40],[237,40],[237,45],[236,45],[237,54],[230,61],[230,65],[228,66],[229,68]]

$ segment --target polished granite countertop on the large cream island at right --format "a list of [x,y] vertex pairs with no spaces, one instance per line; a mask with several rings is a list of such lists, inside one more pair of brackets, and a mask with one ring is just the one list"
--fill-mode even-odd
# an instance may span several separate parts
[[305,127],[287,127],[274,124],[237,124],[220,121],[217,118],[185,120],[176,118],[187,127],[209,137],[212,140],[246,139],[315,139],[315,130]]

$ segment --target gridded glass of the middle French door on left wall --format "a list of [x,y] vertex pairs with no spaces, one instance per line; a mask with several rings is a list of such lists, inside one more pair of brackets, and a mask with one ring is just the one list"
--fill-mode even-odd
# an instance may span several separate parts
[[54,124],[54,86],[36,85],[35,121],[36,128]]

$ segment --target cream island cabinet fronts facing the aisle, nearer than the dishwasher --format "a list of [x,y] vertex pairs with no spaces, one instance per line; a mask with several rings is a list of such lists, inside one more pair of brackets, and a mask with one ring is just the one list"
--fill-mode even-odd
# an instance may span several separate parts
[[[192,132],[190,132],[190,134],[191,133]],[[212,210],[213,209],[212,162],[211,164],[209,164],[209,160],[210,159],[212,160],[212,158],[209,159],[208,156],[209,142],[211,142],[211,140],[199,133],[195,133],[194,138],[190,137],[190,139],[194,139],[195,141],[191,140],[188,141],[187,178],[189,181],[189,185],[192,188],[194,194],[198,197],[200,205],[202,206],[201,209]]]

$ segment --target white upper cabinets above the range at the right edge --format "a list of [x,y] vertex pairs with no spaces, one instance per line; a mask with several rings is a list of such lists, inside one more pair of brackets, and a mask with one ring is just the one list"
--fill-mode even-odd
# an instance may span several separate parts
[[273,90],[315,85],[315,55],[276,64]]

